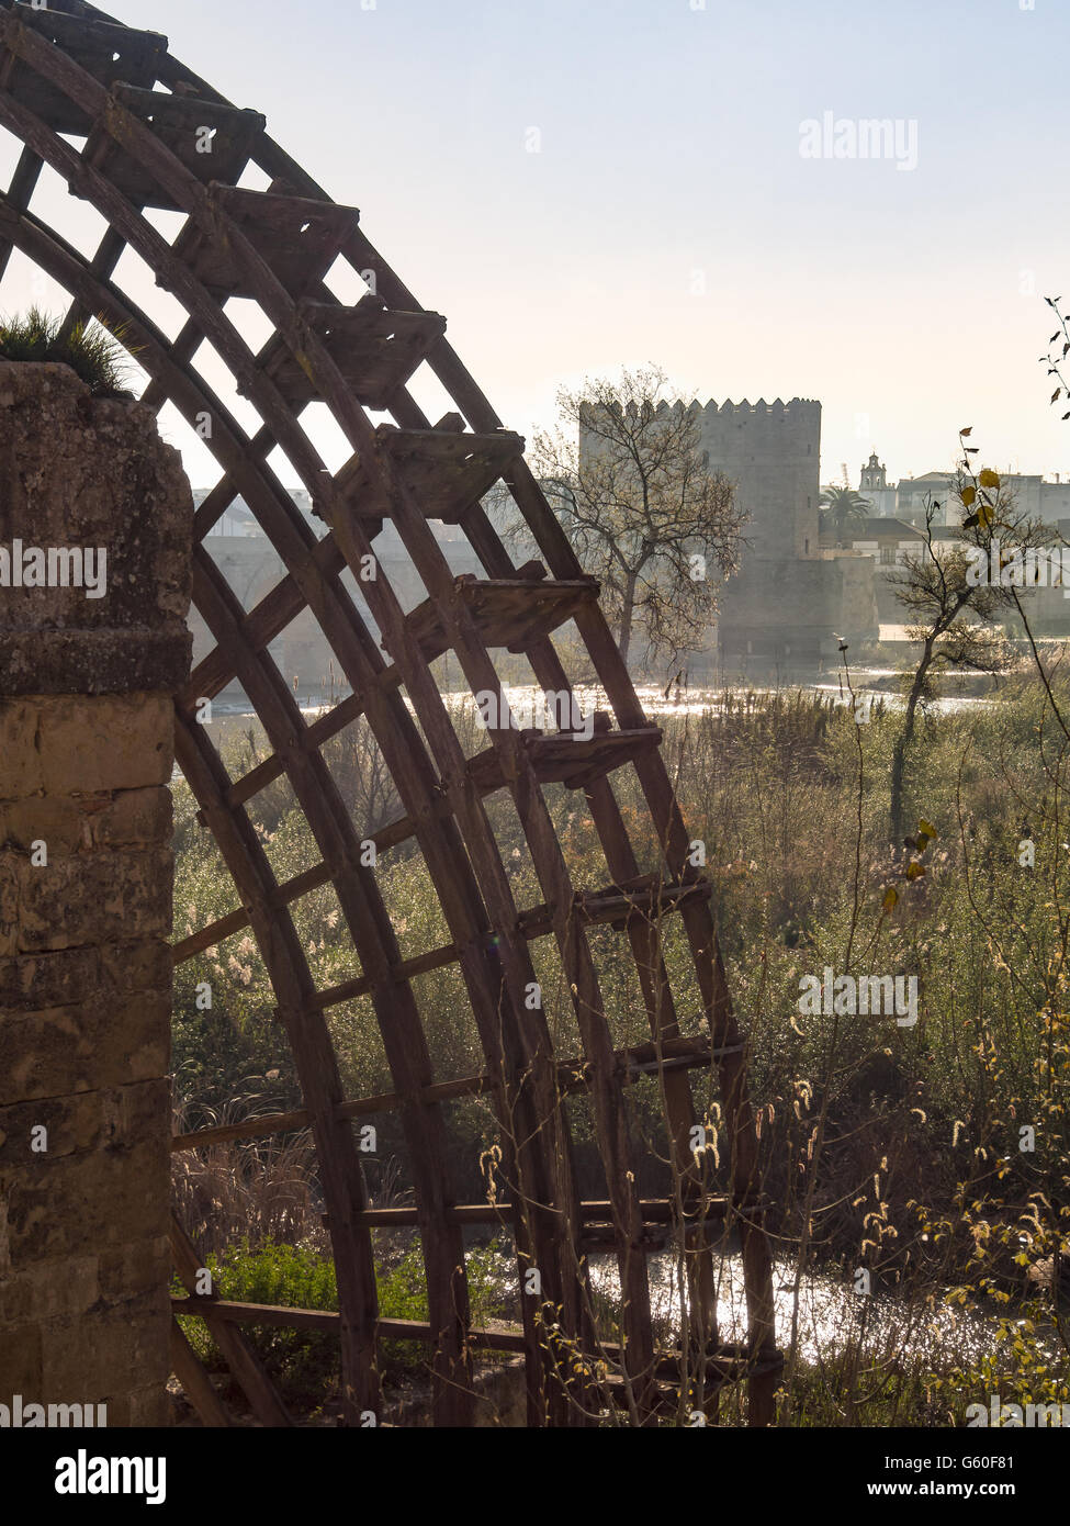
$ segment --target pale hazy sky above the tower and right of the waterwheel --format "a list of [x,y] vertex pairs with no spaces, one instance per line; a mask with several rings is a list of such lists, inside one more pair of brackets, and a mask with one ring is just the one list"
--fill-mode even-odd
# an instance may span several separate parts
[[[702,400],[820,398],[826,481],[872,447],[948,467],[965,424],[1070,470],[1036,363],[1070,298],[1067,0],[365,5],[105,9],[362,209],[511,427],[656,362]],[[899,143],[803,157],[826,113]]]

